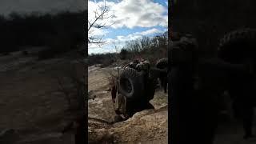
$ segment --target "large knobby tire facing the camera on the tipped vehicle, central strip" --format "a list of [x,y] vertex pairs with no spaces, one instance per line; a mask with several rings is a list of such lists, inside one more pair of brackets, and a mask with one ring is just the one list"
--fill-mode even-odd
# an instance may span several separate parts
[[142,98],[144,94],[142,73],[126,67],[122,70],[118,79],[118,91],[124,95],[127,100]]

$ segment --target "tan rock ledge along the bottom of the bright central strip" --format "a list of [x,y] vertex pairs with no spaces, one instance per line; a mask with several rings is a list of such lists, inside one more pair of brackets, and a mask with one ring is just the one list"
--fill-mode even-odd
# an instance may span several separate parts
[[[89,123],[92,125],[92,122]],[[164,106],[158,110],[142,110],[124,122],[112,126],[102,124],[98,129],[89,130],[89,134],[90,143],[167,143],[168,108]]]

